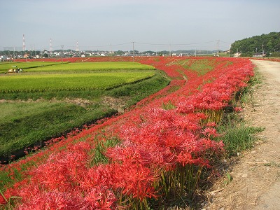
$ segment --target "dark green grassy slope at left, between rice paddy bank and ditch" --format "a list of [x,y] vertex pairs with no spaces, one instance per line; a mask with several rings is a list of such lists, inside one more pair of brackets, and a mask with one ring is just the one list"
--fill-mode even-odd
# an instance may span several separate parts
[[[21,106],[14,108],[13,106]],[[67,103],[0,104],[1,109],[15,109],[21,112],[10,114],[1,120],[0,155],[17,151],[37,141],[55,137],[84,123],[111,116],[116,111],[104,109],[101,105],[87,106]],[[6,106],[6,107],[3,107]],[[30,112],[25,111],[32,109]]]

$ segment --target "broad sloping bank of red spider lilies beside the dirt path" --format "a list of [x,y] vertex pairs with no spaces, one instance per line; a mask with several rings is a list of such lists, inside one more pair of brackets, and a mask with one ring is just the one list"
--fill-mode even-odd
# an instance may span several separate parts
[[228,153],[218,127],[225,110],[240,110],[253,65],[222,57],[136,59],[165,71],[169,85],[123,115],[51,139],[48,148],[3,166],[0,203],[15,209],[157,209],[174,197],[176,204],[192,203]]

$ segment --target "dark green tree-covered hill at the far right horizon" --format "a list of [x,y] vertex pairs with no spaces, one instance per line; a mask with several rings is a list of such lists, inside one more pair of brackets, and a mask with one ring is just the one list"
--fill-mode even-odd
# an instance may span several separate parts
[[242,57],[265,54],[266,57],[280,57],[280,32],[244,38],[232,43],[232,53],[241,52]]

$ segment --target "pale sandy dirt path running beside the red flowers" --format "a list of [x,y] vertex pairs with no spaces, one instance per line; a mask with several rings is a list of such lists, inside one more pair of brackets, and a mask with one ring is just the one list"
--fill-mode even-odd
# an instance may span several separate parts
[[252,60],[263,76],[244,119],[264,127],[260,141],[230,169],[232,181],[216,183],[204,209],[280,209],[280,62]]

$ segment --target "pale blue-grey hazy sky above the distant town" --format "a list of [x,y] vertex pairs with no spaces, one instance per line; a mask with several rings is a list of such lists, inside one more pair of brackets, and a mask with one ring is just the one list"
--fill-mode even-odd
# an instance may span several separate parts
[[0,0],[0,50],[228,50],[280,31],[279,0]]

